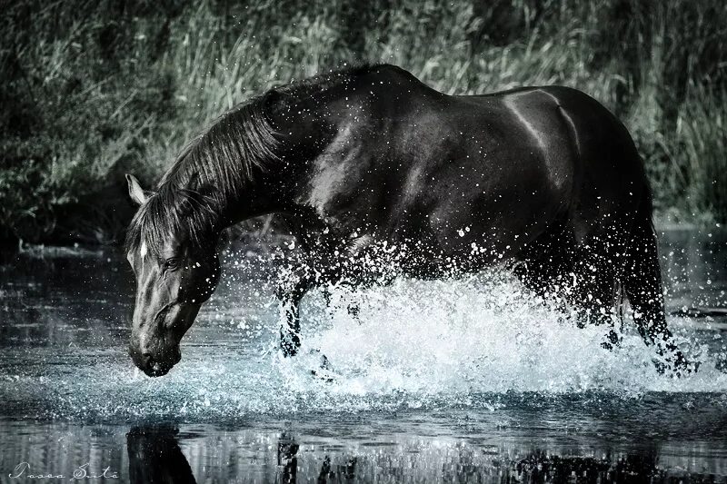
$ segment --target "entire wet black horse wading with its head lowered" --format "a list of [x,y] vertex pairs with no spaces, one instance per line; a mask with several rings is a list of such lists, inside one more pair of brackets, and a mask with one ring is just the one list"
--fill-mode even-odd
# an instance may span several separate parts
[[664,319],[642,160],[622,123],[574,89],[451,96],[393,65],[356,67],[223,114],[156,192],[127,179],[141,205],[126,239],[137,283],[130,352],[148,375],[180,360],[219,279],[221,232],[273,212],[308,254],[277,291],[285,355],[300,345],[306,291],[362,281],[356,261],[395,253],[397,273],[414,277],[513,261],[581,322],[612,321],[625,295],[662,369],[692,369]]

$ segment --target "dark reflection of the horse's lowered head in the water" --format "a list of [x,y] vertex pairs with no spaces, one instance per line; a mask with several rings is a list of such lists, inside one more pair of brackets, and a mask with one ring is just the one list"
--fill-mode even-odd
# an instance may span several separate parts
[[139,484],[194,483],[189,462],[176,440],[174,426],[133,427],[126,434],[129,479]]

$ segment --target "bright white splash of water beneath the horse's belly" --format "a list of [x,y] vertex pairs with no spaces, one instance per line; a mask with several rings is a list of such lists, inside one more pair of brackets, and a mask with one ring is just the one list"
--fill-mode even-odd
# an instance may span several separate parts
[[[325,312],[321,306],[318,302],[319,319]],[[309,350],[320,349],[333,362],[337,377],[331,391],[434,396],[727,390],[727,375],[715,369],[718,359],[684,321],[670,322],[682,349],[702,361],[702,371],[673,379],[657,373],[653,348],[644,345],[630,321],[622,344],[604,350],[607,328],[578,328],[503,272],[339,290],[332,308],[330,323],[304,337]],[[711,336],[722,341],[719,333]]]

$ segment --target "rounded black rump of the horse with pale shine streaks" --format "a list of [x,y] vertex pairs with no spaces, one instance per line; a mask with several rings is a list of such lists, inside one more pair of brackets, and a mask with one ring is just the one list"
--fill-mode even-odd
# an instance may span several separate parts
[[590,95],[565,86],[541,86],[471,97],[482,104],[500,104],[514,114],[542,149],[555,183],[564,185],[565,178],[572,177],[576,218],[594,224],[599,218],[628,216],[648,196],[631,135]]

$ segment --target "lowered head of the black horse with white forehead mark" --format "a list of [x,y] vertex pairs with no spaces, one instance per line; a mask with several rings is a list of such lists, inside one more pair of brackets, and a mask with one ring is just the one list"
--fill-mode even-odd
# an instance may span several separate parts
[[136,278],[129,353],[149,376],[164,375],[182,354],[179,343],[219,280],[213,199],[193,176],[184,188],[145,192],[126,175],[139,210],[126,236]]

